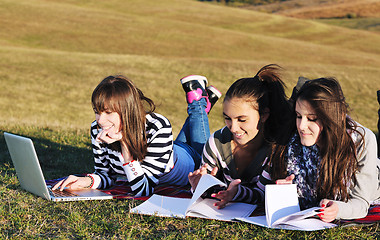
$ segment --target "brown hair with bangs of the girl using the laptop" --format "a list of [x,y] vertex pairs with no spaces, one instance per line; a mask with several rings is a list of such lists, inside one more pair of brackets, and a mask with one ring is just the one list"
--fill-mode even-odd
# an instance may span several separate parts
[[[107,110],[120,115],[121,141],[133,159],[143,160],[147,152],[145,116],[155,110],[154,102],[122,75],[103,79],[93,91],[91,101],[96,112]],[[120,143],[112,144],[112,147],[120,150]]]

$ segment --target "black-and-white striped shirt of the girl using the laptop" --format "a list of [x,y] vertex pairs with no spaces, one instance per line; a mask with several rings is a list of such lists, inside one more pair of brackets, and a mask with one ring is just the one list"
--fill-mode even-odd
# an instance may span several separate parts
[[127,178],[135,196],[148,196],[158,185],[162,175],[173,166],[172,127],[164,116],[151,113],[146,115],[147,154],[142,161],[132,161],[123,165],[121,152],[111,149],[106,143],[97,142],[100,128],[96,121],[91,124],[91,143],[95,159],[93,188],[111,187],[117,176]]

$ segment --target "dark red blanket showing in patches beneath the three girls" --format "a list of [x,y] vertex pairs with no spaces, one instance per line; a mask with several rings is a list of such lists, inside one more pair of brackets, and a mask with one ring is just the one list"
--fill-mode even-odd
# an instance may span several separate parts
[[[61,181],[63,178],[47,180],[48,185],[54,186],[57,182]],[[146,197],[135,197],[131,194],[131,188],[126,181],[116,181],[112,188],[101,190],[107,194],[114,196],[115,199],[136,199],[145,201],[149,198]],[[191,198],[192,193],[190,191],[190,186],[175,186],[175,185],[164,185],[157,186],[154,189],[154,194],[178,197],[178,198]],[[368,210],[368,215],[364,218],[353,219],[353,220],[340,220],[336,221],[336,224],[340,226],[352,226],[352,225],[371,225],[380,222],[380,203],[376,205],[371,205]]]

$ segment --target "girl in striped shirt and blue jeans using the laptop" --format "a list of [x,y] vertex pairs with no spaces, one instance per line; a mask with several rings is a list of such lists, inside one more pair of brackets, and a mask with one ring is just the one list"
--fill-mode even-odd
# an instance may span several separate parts
[[117,176],[128,180],[133,194],[148,196],[159,184],[186,185],[197,169],[210,130],[208,112],[220,92],[207,79],[191,75],[181,79],[188,102],[188,118],[173,143],[168,119],[154,113],[153,101],[124,76],[109,76],[92,93],[95,121],[91,142],[95,172],[70,175],[53,190],[111,187]]

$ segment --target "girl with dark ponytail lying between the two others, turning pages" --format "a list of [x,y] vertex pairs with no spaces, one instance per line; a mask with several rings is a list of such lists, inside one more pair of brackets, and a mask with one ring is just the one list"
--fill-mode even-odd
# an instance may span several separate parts
[[189,174],[192,189],[203,174],[211,173],[228,185],[227,190],[211,196],[223,208],[230,201],[256,203],[262,196],[255,191],[271,144],[280,141],[279,133],[290,120],[291,108],[284,83],[278,75],[279,66],[267,65],[254,77],[235,81],[223,102],[226,126],[207,141],[202,167]]

